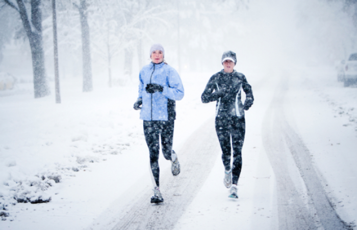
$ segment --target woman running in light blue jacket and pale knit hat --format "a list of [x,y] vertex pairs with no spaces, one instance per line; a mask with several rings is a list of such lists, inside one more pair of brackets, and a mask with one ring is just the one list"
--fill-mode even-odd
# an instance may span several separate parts
[[172,139],[176,119],[175,101],[184,97],[184,87],[179,74],[167,65],[164,57],[165,50],[161,44],[151,46],[151,63],[140,71],[139,96],[134,104],[134,109],[141,109],[140,119],[144,121],[144,135],[150,152],[151,176],[155,180],[151,203],[155,204],[164,202],[159,188],[159,136],[163,155],[166,160],[171,161],[172,175],[177,177],[180,174],[180,163],[172,150]]

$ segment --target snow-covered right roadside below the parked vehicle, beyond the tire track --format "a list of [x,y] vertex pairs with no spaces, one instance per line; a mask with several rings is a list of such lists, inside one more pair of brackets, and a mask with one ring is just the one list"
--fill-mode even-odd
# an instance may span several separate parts
[[343,221],[355,226],[357,88],[344,88],[329,67],[297,73],[289,85],[289,123],[310,150],[331,205]]

